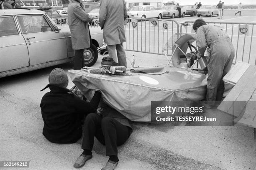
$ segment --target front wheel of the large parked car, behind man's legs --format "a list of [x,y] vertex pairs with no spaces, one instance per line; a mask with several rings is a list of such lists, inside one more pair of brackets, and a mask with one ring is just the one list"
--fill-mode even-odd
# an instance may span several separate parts
[[98,59],[97,47],[91,44],[90,48],[84,49],[84,61],[83,66],[90,67],[96,63]]

